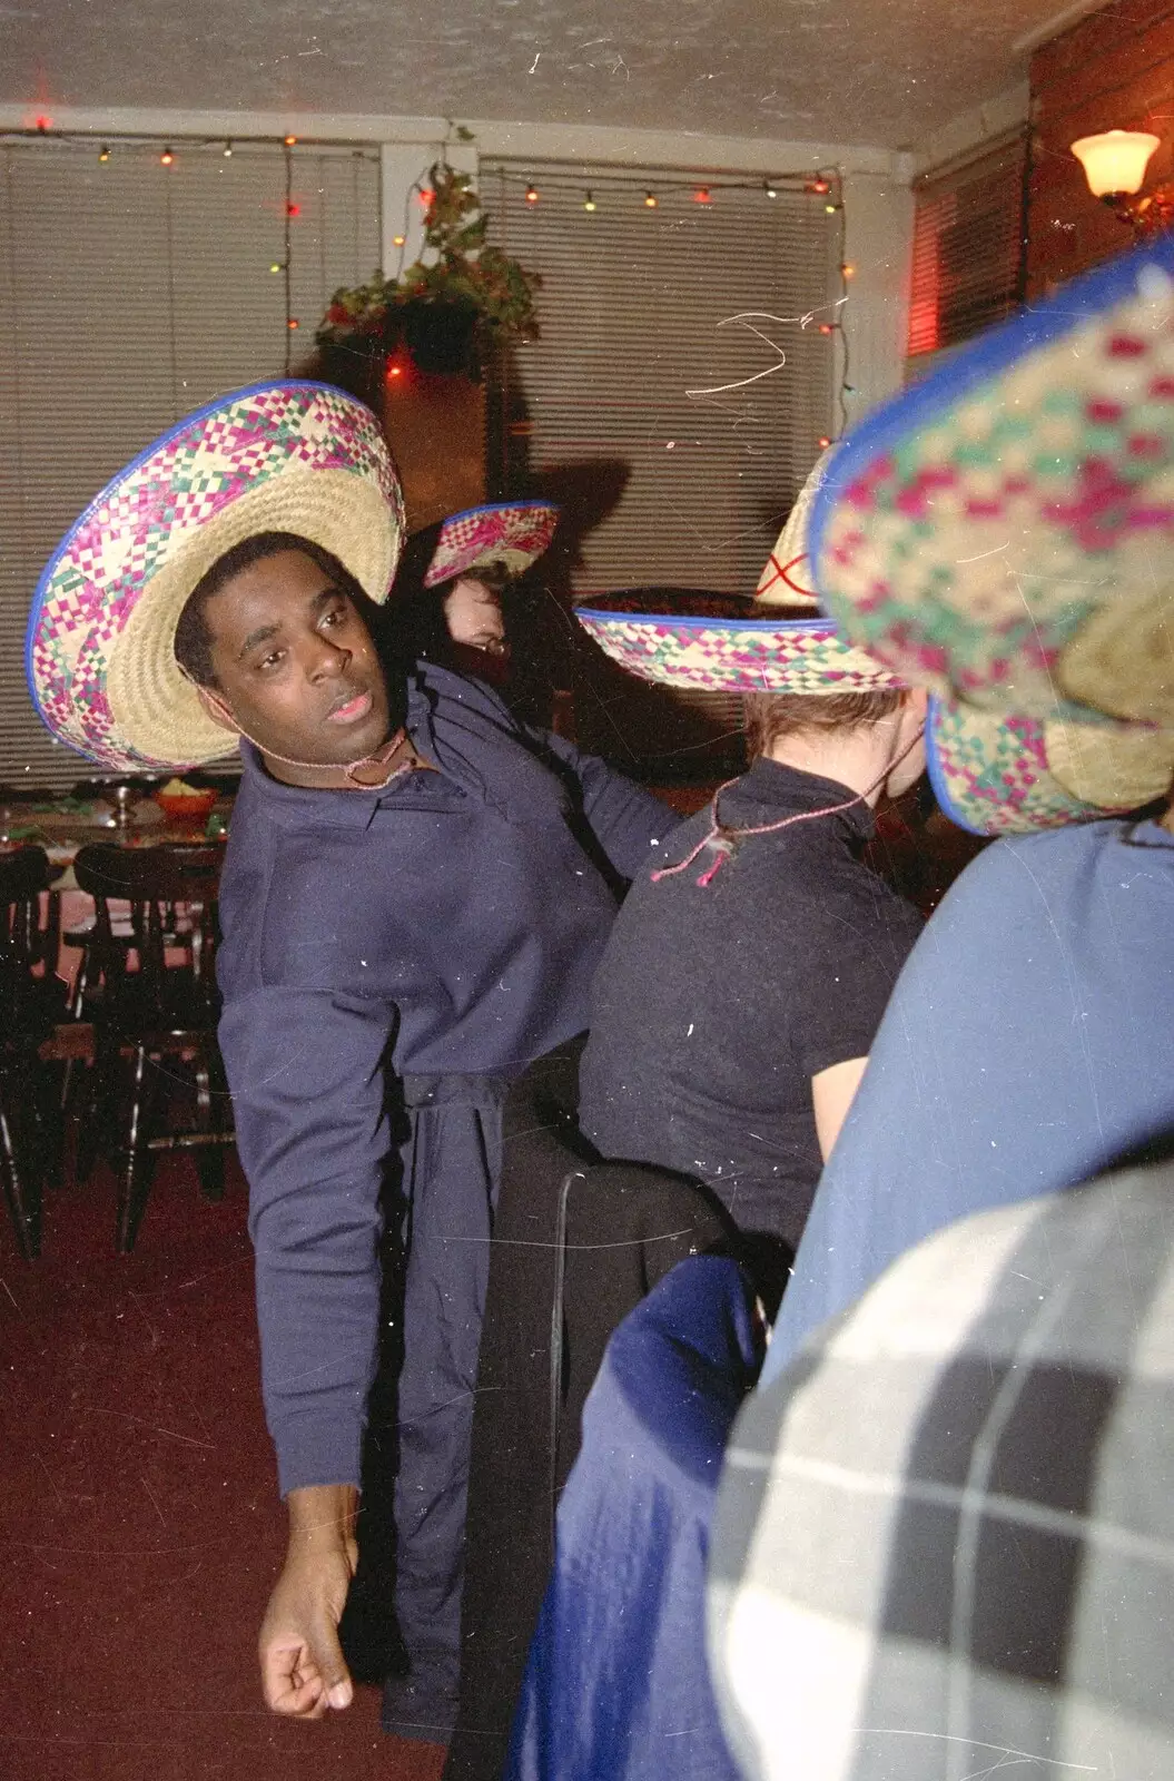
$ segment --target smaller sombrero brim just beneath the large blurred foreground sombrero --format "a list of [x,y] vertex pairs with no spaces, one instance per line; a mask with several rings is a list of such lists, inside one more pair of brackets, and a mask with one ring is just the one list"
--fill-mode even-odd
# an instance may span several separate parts
[[1140,810],[1174,778],[1174,732],[1003,716],[932,698],[926,766],[944,814],[974,835],[1021,835]]

